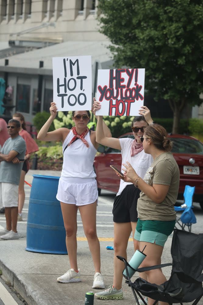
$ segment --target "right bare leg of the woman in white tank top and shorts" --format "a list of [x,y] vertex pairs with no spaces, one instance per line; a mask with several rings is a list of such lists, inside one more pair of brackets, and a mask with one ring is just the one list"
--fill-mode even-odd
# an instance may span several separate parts
[[96,201],[78,207],[82,218],[83,229],[92,254],[95,273],[101,273],[100,242],[96,234]]

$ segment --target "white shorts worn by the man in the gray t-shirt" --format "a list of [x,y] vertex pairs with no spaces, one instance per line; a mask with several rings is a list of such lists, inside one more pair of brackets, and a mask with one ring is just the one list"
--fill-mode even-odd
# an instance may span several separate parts
[[11,208],[18,206],[18,185],[0,182],[0,206]]

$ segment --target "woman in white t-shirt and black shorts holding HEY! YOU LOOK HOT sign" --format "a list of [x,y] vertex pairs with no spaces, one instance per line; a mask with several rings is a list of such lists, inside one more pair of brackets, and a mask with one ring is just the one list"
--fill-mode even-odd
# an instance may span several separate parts
[[[95,110],[100,109],[100,103],[95,102]],[[152,124],[153,120],[150,111],[146,106],[142,106],[139,114],[132,121],[132,131],[135,139],[132,138],[107,138],[102,127],[102,116],[98,117],[96,126],[96,142],[114,149],[121,150],[122,163],[129,162],[135,168],[139,176],[144,178],[146,170],[152,163],[152,156],[143,150],[140,137],[144,135],[145,128]],[[138,221],[137,200],[140,190],[132,183],[124,182],[121,179],[118,193],[114,199],[113,220],[114,220],[114,281],[113,285],[105,291],[96,293],[100,299],[123,299],[121,289],[124,263],[117,259],[117,255],[127,258],[128,239],[135,234]],[[138,249],[138,242],[133,239],[135,250]]]

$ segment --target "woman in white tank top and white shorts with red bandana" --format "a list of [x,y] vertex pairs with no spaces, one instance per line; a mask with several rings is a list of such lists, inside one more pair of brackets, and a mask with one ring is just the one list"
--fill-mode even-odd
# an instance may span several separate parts
[[[97,184],[93,161],[99,144],[96,131],[89,131],[89,111],[73,111],[75,127],[59,128],[48,132],[57,115],[57,107],[51,103],[50,117],[40,129],[37,138],[42,141],[61,141],[63,147],[63,167],[59,179],[56,198],[60,201],[66,230],[66,246],[70,269],[57,278],[60,283],[80,282],[80,269],[77,264],[77,211],[79,210],[83,229],[92,254],[95,275],[93,288],[103,289],[104,282],[100,270],[100,243],[96,234]],[[103,122],[104,133],[111,136]]]

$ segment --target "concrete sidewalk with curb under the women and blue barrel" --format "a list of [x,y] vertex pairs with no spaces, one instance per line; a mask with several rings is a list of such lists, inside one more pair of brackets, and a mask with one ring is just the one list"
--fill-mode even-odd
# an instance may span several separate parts
[[[33,174],[60,176],[57,171],[30,170],[26,181],[32,183]],[[110,237],[110,236],[108,236]],[[111,236],[113,237],[113,236]],[[166,242],[162,263],[172,261],[170,256],[172,236]],[[113,282],[114,251],[106,250],[113,242],[102,242],[101,265],[105,288]],[[67,255],[54,255],[28,252],[26,238],[0,242],[0,270],[2,276],[14,286],[17,292],[29,305],[84,305],[85,293],[100,291],[92,289],[94,268],[86,241],[78,242],[78,261],[81,268],[82,282],[61,284],[56,278],[69,269]],[[133,254],[132,247],[128,249],[128,257]],[[168,279],[171,267],[165,267],[163,272]],[[138,274],[137,274],[138,275]],[[135,280],[135,276],[134,279]],[[123,280],[124,300],[99,300],[94,298],[94,304],[136,304],[131,288]],[[203,301],[200,301],[203,305]]]

